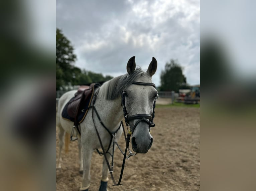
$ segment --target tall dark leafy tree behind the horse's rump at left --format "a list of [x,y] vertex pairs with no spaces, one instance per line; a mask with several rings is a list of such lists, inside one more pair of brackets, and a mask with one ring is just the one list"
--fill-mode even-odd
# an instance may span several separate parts
[[[56,29],[56,89],[69,82],[74,83],[78,68],[73,64],[76,60],[76,55],[73,53],[74,48],[71,42],[65,37],[61,30]],[[81,70],[80,70],[81,73]]]

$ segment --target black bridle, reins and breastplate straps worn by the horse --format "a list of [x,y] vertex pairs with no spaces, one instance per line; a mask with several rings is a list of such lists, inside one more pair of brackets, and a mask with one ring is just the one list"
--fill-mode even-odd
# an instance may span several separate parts
[[[153,86],[153,87],[155,88],[155,84],[153,84],[153,83],[133,82],[132,84],[141,85],[141,86]],[[129,158],[130,156],[133,156],[133,155],[136,155],[136,154],[137,154],[137,153],[132,153],[132,151],[129,149],[130,138],[131,138],[132,133],[134,132],[134,129],[135,129],[136,126],[139,124],[139,122],[142,122],[142,121],[146,122],[146,123],[149,125],[149,132],[150,132],[150,128],[155,126],[155,124],[153,123],[153,119],[154,119],[154,116],[155,116],[155,102],[156,102],[156,100],[154,100],[154,103],[153,103],[153,113],[152,113],[152,115],[149,115],[149,114],[135,114],[135,115],[129,116],[129,115],[128,115],[128,112],[127,112],[127,110],[126,110],[126,107],[125,107],[125,92],[122,93],[122,107],[123,107],[124,119],[125,119],[125,124],[126,124],[126,126],[127,126],[127,130],[128,130],[128,126],[130,127],[129,122],[130,122],[131,120],[139,119],[139,120],[135,123],[135,125],[133,126],[133,128],[130,127],[130,130],[128,131],[127,136],[125,136],[125,130],[124,130],[123,121],[120,122],[120,126],[118,127],[118,129],[117,129],[115,132],[111,132],[111,131],[104,125],[104,123],[101,121],[101,118],[100,118],[100,116],[99,116],[99,114],[98,114],[98,112],[97,112],[97,110],[96,110],[96,108],[95,108],[95,106],[94,106],[98,93],[99,93],[99,89],[97,90],[97,92],[96,92],[95,95],[94,95],[93,104],[92,104],[92,106],[91,106],[92,109],[93,109],[93,110],[92,110],[92,119],[93,119],[93,123],[94,123],[94,127],[95,127],[95,130],[96,130],[97,136],[98,136],[99,141],[100,141],[101,149],[102,149],[103,152],[101,153],[98,149],[96,149],[96,150],[97,150],[97,152],[98,152],[100,155],[104,155],[104,158],[105,158],[105,160],[106,160],[107,166],[108,166],[108,168],[109,168],[109,172],[110,172],[112,181],[113,181],[113,183],[114,183],[113,186],[118,186],[118,185],[122,185],[122,184],[120,184],[120,183],[121,183],[122,176],[123,176],[124,165],[125,165],[125,159],[126,159],[126,158]],[[100,138],[100,134],[99,134],[99,132],[98,132],[96,126],[95,126],[94,117],[93,117],[94,111],[95,111],[95,113],[96,113],[96,115],[97,115],[97,117],[98,117],[98,119],[99,119],[101,125],[108,131],[108,133],[109,133],[110,136],[111,136],[111,138],[110,138],[110,143],[109,143],[109,146],[108,146],[107,151],[104,150],[104,147],[103,147],[103,144],[102,144],[102,141],[101,141],[101,138]],[[117,133],[117,131],[120,129],[121,125],[122,125],[122,127],[123,127],[124,137],[125,137],[125,142],[126,142],[125,152],[123,152],[123,151],[121,150],[121,148],[120,148],[119,145],[117,144],[116,137],[115,137],[115,136],[116,136],[116,133]],[[112,151],[112,155],[111,155],[111,153],[109,153],[108,151],[109,151],[109,148],[110,148],[110,146],[111,146],[111,142],[112,142],[113,138],[114,138],[114,141],[113,141],[113,151]],[[112,173],[112,172],[113,172],[113,159],[114,159],[114,146],[115,146],[115,144],[118,146],[119,150],[120,150],[120,151],[122,152],[122,154],[124,155],[123,164],[122,164],[121,173],[120,173],[120,177],[119,177],[118,183],[116,183],[116,181],[115,181],[115,179],[114,179],[114,176],[113,176],[113,173]],[[128,155],[128,156],[126,156],[126,154],[127,154],[127,149],[129,150],[129,155]],[[109,153],[109,154],[112,156],[111,167],[110,167],[109,161],[108,161],[108,159],[107,159],[106,153]]]

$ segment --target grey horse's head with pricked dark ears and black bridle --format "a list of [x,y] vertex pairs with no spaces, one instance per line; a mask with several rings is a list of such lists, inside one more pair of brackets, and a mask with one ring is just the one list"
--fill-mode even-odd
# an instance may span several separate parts
[[[128,75],[132,75],[136,68],[135,57],[130,58],[127,63]],[[157,61],[153,57],[147,72],[143,73],[135,83],[123,91],[123,101],[127,115],[127,122],[132,129],[132,149],[137,153],[146,153],[152,146],[153,137],[150,127],[154,126],[153,111],[157,98],[157,91],[151,82],[155,74]],[[140,83],[137,83],[140,82]]]

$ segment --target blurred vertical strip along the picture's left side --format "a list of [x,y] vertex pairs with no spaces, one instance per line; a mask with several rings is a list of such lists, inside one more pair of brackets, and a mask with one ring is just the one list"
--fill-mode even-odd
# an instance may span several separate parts
[[10,0],[0,10],[1,190],[54,190],[56,4]]

